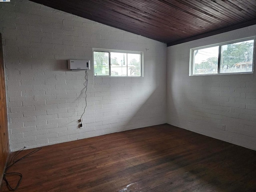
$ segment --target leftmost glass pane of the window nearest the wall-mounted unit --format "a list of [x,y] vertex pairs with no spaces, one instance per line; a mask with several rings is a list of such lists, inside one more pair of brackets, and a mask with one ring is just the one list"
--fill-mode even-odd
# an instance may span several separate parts
[[108,52],[93,52],[94,57],[94,75],[109,75]]

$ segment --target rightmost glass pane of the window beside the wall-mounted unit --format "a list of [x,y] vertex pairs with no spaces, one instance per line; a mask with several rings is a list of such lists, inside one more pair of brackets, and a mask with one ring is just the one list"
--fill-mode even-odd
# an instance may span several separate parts
[[140,54],[127,54],[128,76],[141,76]]

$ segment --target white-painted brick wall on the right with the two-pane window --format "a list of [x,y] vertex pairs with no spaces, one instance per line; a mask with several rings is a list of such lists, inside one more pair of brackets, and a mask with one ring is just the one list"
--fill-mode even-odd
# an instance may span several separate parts
[[[189,76],[190,48],[256,35],[256,25],[167,48],[167,122],[256,150],[256,72]],[[226,125],[226,130],[222,130]]]

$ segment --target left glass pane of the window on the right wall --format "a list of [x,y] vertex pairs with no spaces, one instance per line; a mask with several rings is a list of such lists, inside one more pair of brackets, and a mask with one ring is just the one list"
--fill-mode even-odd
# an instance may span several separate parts
[[193,74],[218,73],[219,46],[194,50]]

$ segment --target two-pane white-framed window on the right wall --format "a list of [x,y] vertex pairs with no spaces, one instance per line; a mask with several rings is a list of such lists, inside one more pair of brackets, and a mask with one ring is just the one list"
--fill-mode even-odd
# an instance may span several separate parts
[[252,73],[255,37],[190,49],[190,75]]

